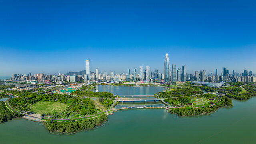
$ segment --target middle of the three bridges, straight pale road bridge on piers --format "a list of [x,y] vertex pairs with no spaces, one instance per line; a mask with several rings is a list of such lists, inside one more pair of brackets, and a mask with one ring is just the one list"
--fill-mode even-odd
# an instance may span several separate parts
[[166,98],[116,98],[115,101],[118,102],[141,102],[144,101],[146,103],[146,101],[161,101],[164,100]]

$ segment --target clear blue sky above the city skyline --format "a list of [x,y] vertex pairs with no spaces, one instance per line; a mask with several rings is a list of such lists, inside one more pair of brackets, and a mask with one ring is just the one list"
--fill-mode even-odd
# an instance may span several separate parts
[[0,76],[85,70],[256,73],[255,0],[0,0]]

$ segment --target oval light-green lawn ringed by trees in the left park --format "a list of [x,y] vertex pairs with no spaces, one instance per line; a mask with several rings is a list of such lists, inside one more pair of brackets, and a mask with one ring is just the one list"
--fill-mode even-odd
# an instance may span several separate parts
[[36,114],[53,114],[54,112],[64,112],[68,106],[60,102],[38,102],[29,106],[29,108]]

